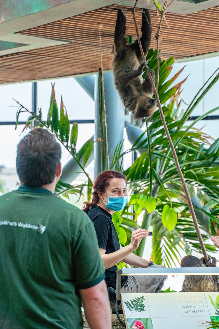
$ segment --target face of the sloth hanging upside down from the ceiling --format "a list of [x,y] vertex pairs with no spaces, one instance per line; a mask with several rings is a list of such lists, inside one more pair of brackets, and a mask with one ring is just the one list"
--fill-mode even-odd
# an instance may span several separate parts
[[154,98],[141,97],[137,101],[135,117],[143,118],[151,116],[157,108],[157,101]]

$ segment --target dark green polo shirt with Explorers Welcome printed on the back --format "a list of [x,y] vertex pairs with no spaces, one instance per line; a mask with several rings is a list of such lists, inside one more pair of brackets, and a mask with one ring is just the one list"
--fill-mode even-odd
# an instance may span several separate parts
[[43,188],[0,197],[0,328],[83,328],[79,289],[104,272],[83,211]]

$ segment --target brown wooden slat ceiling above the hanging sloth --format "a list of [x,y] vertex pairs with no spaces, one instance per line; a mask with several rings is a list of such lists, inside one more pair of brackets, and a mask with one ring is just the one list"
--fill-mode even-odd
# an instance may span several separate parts
[[[96,72],[101,67],[101,53],[103,69],[111,69],[118,7],[105,7],[19,32],[71,42],[0,57],[0,84]],[[136,9],[139,28],[141,12]],[[156,30],[159,23],[156,12],[150,13]],[[136,38],[132,13],[125,10],[125,14],[127,35]],[[188,15],[166,13],[166,20],[168,27],[164,23],[160,43],[163,60],[169,56],[180,59],[219,51],[219,6]],[[151,48],[155,47],[153,37]]]

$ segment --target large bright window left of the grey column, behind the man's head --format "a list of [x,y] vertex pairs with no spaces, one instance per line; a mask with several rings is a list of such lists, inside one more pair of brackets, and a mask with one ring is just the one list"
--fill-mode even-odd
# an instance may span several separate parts
[[[41,107],[43,119],[46,119],[50,106],[51,82],[37,82],[37,108]],[[18,105],[12,99],[14,98],[19,103],[24,105],[28,110],[32,111],[32,83],[20,83],[13,85],[0,86],[1,94],[1,112],[0,112],[0,187],[4,192],[8,192],[17,187],[19,181],[16,174],[16,147],[21,138],[25,136],[26,131],[22,133],[24,124],[18,125],[15,130],[14,122],[16,121],[16,111]],[[57,79],[55,81],[55,95],[60,108],[61,95],[64,106],[70,120],[84,119],[94,120],[95,104],[91,97],[82,89],[74,78]],[[26,122],[29,114],[20,114],[19,122]],[[13,124],[12,124],[13,123]],[[94,123],[79,124],[77,149],[94,135]],[[28,130],[27,130],[28,131]],[[62,148],[61,164],[64,165],[71,159],[69,152]],[[91,178],[94,178],[94,165],[89,166]],[[83,175],[77,177],[77,183],[84,181]]]

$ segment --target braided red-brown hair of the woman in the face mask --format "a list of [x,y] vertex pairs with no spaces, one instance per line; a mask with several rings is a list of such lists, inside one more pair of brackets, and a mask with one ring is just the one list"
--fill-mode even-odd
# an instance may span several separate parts
[[126,182],[126,177],[121,172],[118,172],[118,171],[106,170],[106,171],[103,171],[101,174],[99,174],[93,185],[94,192],[93,192],[93,198],[92,198],[91,203],[84,202],[83,209],[84,209],[85,213],[88,212],[88,210],[91,206],[95,206],[98,203],[99,196],[98,196],[97,190],[99,190],[101,192],[105,192],[105,190],[106,190],[107,186],[109,186],[110,180],[112,178],[123,178],[124,181]]

